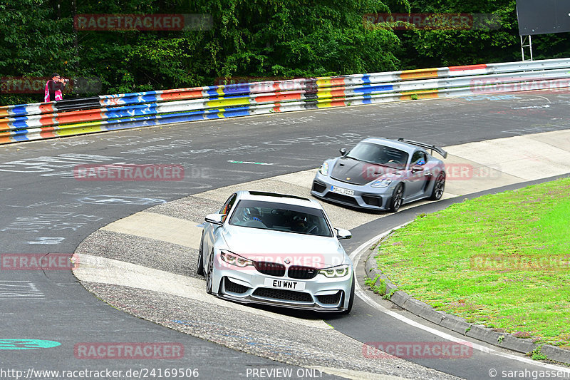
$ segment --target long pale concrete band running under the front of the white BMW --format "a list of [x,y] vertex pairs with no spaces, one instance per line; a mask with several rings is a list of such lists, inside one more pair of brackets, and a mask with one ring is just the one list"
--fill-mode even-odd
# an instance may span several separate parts
[[205,283],[201,279],[186,277],[159,269],[143,267],[142,265],[123,262],[120,260],[108,259],[106,257],[92,255],[76,255],[78,265],[73,269],[73,274],[80,281],[97,282],[102,284],[118,285],[123,287],[135,287],[138,289],[150,290],[152,292],[162,292],[172,294],[177,297],[195,299],[199,302],[215,304],[219,307],[237,309],[240,312],[257,314],[260,317],[279,319],[281,321],[301,324],[316,329],[333,329],[322,319],[301,319],[289,317],[284,314],[267,312],[262,309],[255,309],[246,305],[228,302],[207,294]]

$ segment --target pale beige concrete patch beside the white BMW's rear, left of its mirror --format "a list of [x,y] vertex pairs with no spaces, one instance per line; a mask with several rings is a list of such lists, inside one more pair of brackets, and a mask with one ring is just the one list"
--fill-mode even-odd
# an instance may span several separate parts
[[146,211],[124,217],[101,230],[148,237],[196,250],[202,237],[202,228],[195,222]]

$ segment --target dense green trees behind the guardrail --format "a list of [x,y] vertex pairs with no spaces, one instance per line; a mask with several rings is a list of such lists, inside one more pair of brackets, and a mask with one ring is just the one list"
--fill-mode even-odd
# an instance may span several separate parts
[[[495,30],[366,28],[385,12],[494,14]],[[77,14],[208,14],[188,31],[76,31]],[[209,86],[220,78],[294,78],[520,59],[515,0],[0,0],[0,77],[95,77],[98,93]],[[565,56],[566,34],[535,38]],[[73,94],[68,94],[69,98]],[[86,96],[86,94],[82,94]],[[43,95],[0,94],[1,104]]]

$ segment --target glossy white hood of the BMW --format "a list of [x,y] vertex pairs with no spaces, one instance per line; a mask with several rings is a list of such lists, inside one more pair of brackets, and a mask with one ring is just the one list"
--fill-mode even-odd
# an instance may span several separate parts
[[351,264],[336,237],[234,225],[225,225],[223,228],[228,249],[249,260],[317,268]]

